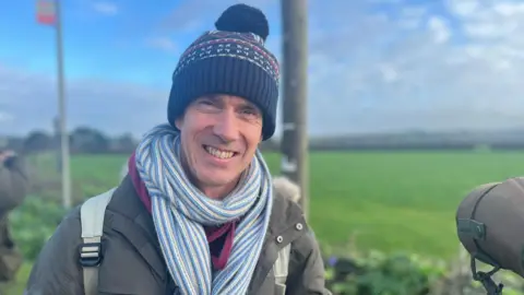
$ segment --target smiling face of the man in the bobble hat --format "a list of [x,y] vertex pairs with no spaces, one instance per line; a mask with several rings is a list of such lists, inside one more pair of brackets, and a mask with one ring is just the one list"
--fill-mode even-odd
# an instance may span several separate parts
[[262,140],[260,109],[231,95],[199,97],[176,126],[187,168],[210,198],[233,190]]

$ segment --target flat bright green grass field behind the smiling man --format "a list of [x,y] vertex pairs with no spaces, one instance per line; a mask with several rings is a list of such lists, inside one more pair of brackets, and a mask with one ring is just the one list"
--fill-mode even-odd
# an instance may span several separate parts
[[[277,154],[266,154],[274,174]],[[118,181],[126,156],[74,156],[72,174],[88,191]],[[310,154],[310,222],[323,244],[356,234],[361,250],[406,250],[450,258],[454,213],[476,185],[524,174],[524,153],[341,152]]]

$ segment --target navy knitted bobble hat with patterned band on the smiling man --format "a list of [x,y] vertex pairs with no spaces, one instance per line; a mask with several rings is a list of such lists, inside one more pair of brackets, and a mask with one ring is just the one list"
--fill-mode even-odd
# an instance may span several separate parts
[[209,31],[181,55],[172,73],[167,106],[169,123],[203,95],[242,97],[262,111],[263,140],[273,137],[278,104],[279,66],[265,48],[267,20],[259,9],[235,4],[226,9]]

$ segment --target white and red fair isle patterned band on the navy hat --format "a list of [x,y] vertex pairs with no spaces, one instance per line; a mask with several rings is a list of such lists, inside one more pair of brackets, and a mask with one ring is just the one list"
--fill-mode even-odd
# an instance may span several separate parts
[[193,62],[214,57],[231,57],[257,64],[270,74],[278,85],[278,62],[271,54],[261,48],[263,46],[262,38],[254,34],[206,32],[182,54],[174,76]]

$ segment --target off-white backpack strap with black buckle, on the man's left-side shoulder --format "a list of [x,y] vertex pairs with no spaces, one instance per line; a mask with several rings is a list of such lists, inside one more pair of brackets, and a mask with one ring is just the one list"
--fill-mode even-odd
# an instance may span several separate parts
[[83,240],[80,248],[80,264],[84,272],[85,295],[98,294],[98,266],[102,262],[104,215],[115,189],[87,199],[80,209]]

